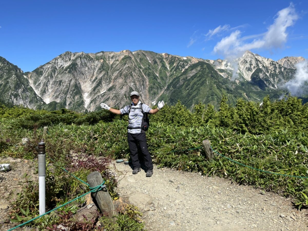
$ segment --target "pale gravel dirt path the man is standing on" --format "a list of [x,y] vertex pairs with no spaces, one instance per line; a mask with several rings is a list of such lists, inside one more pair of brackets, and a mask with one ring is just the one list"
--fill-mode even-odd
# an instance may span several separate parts
[[144,170],[132,175],[129,165],[115,167],[120,197],[152,197],[143,217],[148,230],[308,230],[308,211],[274,193],[168,168],[145,177]]

